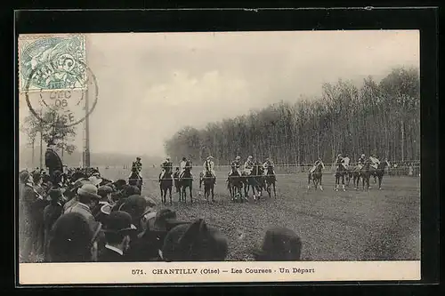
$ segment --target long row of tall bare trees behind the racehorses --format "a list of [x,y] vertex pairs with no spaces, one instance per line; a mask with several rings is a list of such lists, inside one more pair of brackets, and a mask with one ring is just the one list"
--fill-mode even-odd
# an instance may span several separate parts
[[[279,100],[279,98],[277,98]],[[182,156],[230,164],[252,155],[275,164],[353,161],[364,153],[392,162],[420,159],[420,80],[418,68],[393,68],[380,82],[366,77],[360,86],[339,80],[323,84],[320,97],[278,103],[250,114],[176,132],[165,143],[172,160]]]

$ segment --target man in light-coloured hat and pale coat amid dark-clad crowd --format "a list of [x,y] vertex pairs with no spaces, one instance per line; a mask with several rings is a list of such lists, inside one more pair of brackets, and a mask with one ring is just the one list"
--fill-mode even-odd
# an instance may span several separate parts
[[92,209],[99,203],[101,196],[97,194],[97,188],[93,184],[85,184],[77,189],[77,204],[74,204],[67,212],[78,212],[85,220],[94,222]]

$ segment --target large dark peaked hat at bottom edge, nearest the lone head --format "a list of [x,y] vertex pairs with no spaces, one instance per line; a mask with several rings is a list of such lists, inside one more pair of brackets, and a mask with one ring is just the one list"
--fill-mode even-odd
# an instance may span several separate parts
[[171,229],[160,255],[165,261],[223,261],[227,252],[227,238],[199,219]]

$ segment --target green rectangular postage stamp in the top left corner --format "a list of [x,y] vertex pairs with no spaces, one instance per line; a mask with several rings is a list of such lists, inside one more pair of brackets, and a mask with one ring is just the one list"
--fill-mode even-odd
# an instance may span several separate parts
[[85,87],[85,36],[19,36],[20,92]]

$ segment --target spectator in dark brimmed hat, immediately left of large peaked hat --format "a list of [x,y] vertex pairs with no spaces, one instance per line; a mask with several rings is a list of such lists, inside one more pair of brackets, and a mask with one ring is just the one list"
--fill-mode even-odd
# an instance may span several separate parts
[[166,234],[172,228],[190,222],[176,219],[176,212],[170,209],[162,209],[158,212],[149,212],[147,217],[147,228],[138,237],[132,240],[126,260],[128,261],[160,261],[160,250],[164,244]]

